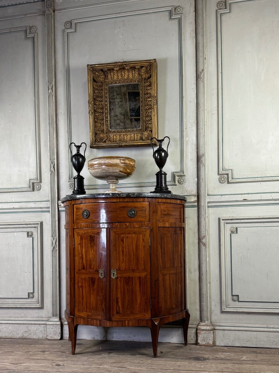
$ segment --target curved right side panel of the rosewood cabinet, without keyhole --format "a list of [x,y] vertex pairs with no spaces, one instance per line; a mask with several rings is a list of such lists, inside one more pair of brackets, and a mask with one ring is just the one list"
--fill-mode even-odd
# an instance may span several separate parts
[[184,309],[184,229],[160,227],[158,232],[160,316],[165,316]]

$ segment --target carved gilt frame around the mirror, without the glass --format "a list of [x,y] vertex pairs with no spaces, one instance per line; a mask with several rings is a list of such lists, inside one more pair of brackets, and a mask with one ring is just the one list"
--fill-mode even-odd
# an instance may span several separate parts
[[[90,148],[150,145],[157,137],[157,62],[153,60],[87,65]],[[110,129],[109,86],[139,84],[140,128]]]

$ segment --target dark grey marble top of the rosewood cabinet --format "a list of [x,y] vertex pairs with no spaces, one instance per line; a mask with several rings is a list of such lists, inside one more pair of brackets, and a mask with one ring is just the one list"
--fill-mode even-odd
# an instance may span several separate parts
[[61,203],[72,200],[86,198],[104,198],[104,197],[135,197],[135,198],[172,198],[175,200],[187,201],[187,198],[179,194],[164,193],[93,193],[93,194],[68,194],[61,199]]

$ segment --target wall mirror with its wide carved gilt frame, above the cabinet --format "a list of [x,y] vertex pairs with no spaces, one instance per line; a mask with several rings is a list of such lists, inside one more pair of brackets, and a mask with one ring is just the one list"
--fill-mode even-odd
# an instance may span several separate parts
[[158,133],[156,60],[87,69],[90,147],[149,146]]

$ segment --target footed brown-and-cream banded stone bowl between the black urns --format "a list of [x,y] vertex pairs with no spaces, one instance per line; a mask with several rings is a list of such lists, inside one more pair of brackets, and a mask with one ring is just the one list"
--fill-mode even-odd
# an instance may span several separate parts
[[136,161],[129,157],[97,157],[88,161],[88,169],[94,178],[106,180],[109,184],[109,190],[104,193],[122,193],[116,190],[116,184],[133,175]]

